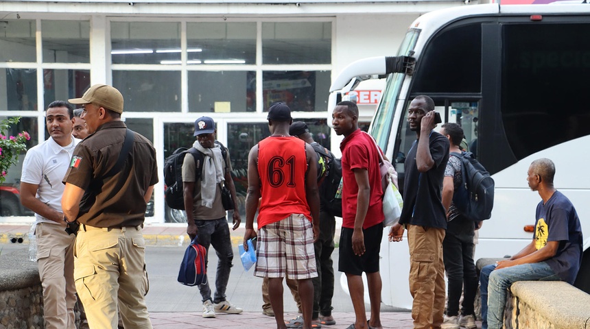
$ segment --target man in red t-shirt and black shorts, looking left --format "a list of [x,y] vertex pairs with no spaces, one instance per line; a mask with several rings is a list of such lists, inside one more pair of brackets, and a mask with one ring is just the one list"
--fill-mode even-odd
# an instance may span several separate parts
[[[382,328],[379,250],[383,236],[383,188],[379,173],[380,149],[373,138],[359,130],[359,109],[341,101],[332,111],[332,125],[342,151],[342,230],[338,271],[346,273],[355,323],[349,328]],[[370,298],[370,320],[364,304],[362,272],[366,273]]]

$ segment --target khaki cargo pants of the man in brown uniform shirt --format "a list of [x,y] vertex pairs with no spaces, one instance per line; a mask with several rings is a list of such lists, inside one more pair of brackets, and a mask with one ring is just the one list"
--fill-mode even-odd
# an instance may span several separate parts
[[152,328],[143,298],[148,283],[140,226],[107,229],[81,225],[74,278],[91,329],[116,329],[117,306],[126,328]]

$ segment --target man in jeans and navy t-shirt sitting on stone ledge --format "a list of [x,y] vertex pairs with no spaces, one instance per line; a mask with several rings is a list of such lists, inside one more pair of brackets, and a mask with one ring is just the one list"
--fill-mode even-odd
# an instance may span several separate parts
[[509,260],[482,269],[482,329],[502,328],[506,293],[512,283],[562,280],[573,284],[576,280],[582,263],[582,227],[574,205],[554,188],[554,175],[552,160],[542,158],[530,164],[528,186],[543,199],[536,206],[534,236]]

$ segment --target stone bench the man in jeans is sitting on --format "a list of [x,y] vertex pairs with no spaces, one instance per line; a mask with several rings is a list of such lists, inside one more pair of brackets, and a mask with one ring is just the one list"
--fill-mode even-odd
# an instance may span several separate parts
[[[477,260],[477,270],[505,258]],[[519,281],[506,299],[505,328],[590,328],[590,295],[563,281]]]

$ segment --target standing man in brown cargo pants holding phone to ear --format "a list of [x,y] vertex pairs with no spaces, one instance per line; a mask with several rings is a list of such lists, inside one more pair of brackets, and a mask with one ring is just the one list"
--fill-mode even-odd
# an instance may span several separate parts
[[445,308],[443,239],[447,229],[441,191],[449,141],[433,130],[434,101],[428,96],[420,95],[410,103],[408,123],[418,138],[405,158],[403,208],[399,224],[389,235],[391,241],[401,241],[403,226],[408,229],[414,329],[440,328]]

